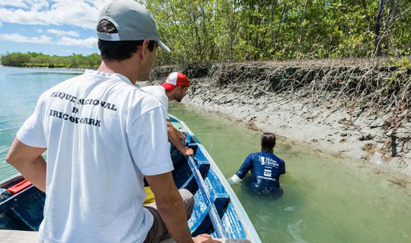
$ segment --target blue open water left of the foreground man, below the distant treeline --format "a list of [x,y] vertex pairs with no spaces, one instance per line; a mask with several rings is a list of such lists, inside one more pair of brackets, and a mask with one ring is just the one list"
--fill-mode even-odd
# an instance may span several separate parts
[[10,144],[36,107],[38,97],[82,71],[11,68],[0,65],[0,181],[18,172],[5,162]]

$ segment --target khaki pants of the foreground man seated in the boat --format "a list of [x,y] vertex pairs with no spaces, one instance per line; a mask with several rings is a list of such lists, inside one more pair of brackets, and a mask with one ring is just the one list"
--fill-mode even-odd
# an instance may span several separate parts
[[[194,196],[186,189],[180,189],[179,192],[184,202],[187,220],[189,220],[193,213]],[[150,231],[148,231],[144,243],[159,243],[162,240],[171,238],[164,221],[161,219],[159,211],[157,211],[156,202],[147,204],[144,208],[147,208],[154,217],[153,226],[151,226]]]

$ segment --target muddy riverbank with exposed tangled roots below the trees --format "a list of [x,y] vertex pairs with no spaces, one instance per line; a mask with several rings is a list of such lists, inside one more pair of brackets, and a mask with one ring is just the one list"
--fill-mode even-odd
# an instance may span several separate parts
[[157,67],[141,85],[174,70],[192,82],[183,103],[411,175],[407,68],[363,60],[198,64]]

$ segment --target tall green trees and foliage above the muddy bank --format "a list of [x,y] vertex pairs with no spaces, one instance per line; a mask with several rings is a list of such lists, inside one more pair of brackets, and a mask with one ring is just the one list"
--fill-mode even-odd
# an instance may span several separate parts
[[382,55],[411,54],[409,0],[387,0],[377,37],[379,0],[307,0],[303,18],[305,1],[140,0],[172,50],[158,53],[160,65],[373,57],[375,39]]

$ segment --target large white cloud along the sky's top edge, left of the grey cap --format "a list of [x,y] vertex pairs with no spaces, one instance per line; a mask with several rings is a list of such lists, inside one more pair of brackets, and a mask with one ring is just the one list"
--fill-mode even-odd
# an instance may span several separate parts
[[[74,25],[85,29],[95,29],[100,8],[107,0],[35,0],[25,3],[22,0],[14,0],[15,5],[21,6],[18,9],[10,9],[11,6],[0,0],[0,21],[31,24],[31,25]],[[1,4],[3,3],[3,4]],[[26,5],[26,6],[27,6]],[[15,6],[17,7],[17,6]]]

